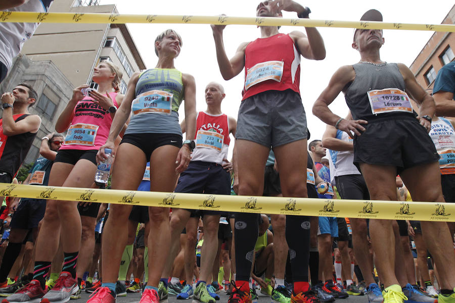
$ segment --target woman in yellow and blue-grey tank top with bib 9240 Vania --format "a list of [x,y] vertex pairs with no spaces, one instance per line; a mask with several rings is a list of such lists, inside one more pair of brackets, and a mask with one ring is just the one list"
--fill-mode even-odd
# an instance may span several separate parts
[[[112,122],[109,138],[97,155],[99,162],[107,158],[105,148],[114,150],[114,139],[130,118],[111,170],[112,189],[138,189],[146,163],[150,161],[150,190],[172,192],[179,173],[188,167],[193,145],[190,140],[196,132],[196,84],[193,76],[181,73],[174,67],[180,47],[180,36],[171,29],[164,31],[155,40],[155,53],[158,56],[156,67],[134,73],[129,80],[123,103]],[[181,100],[185,100],[188,144],[187,141],[182,144],[178,124],[177,111]],[[102,243],[102,287],[107,288],[106,291],[98,291],[88,301],[109,299],[105,296],[115,294],[115,282],[127,240],[124,227],[131,208],[131,205],[111,205]],[[159,303],[158,285],[170,245],[169,209],[150,207],[149,216],[150,267],[143,295]]]

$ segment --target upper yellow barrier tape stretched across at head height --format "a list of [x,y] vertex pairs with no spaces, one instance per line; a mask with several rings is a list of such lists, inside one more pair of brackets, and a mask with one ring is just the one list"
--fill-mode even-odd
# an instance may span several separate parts
[[342,27],[366,29],[404,29],[455,32],[453,24],[385,23],[376,21],[339,21],[312,19],[285,19],[277,17],[230,17],[230,16],[173,16],[132,15],[106,13],[35,13],[0,12],[0,22],[43,22],[43,23],[173,23],[173,24],[218,24],[260,26],[306,26]]

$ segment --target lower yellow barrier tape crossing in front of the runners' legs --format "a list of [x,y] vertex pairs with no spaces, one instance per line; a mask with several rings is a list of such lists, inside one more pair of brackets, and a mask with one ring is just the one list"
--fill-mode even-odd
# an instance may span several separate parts
[[455,222],[455,204],[169,193],[0,183],[0,195],[221,212]]

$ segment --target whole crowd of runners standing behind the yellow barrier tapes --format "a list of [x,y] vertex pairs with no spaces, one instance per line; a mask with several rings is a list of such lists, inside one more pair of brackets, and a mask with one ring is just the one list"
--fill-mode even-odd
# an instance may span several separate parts
[[[51,4],[6,1],[0,9],[46,12]],[[281,17],[282,11],[299,18],[311,13],[276,0],[260,2],[256,15]],[[382,15],[370,10],[361,20],[382,21]],[[36,26],[0,24],[0,81],[23,33],[28,38]],[[319,31],[284,34],[260,26],[259,38],[240,44],[229,59],[225,26],[211,28],[222,77],[244,71],[237,119],[221,112],[232,92],[216,82],[205,87],[206,110],[196,112],[197,79],[175,67],[183,39],[169,29],[155,39],[155,68],[134,73],[124,95],[118,92],[122,73],[107,61],[94,69],[97,90],[74,88],[23,183],[105,188],[94,178],[109,148],[115,161],[106,190],[341,197],[359,204],[416,200],[440,203],[441,210],[445,201],[455,202],[455,62],[438,73],[430,95],[405,65],[381,60],[382,30],[356,29],[352,47],[360,60],[340,67],[315,100],[312,114],[327,128],[322,138],[310,139],[300,60],[326,57]],[[340,92],[347,117],[328,107]],[[17,183],[41,123],[28,112],[37,99],[27,83],[1,96],[1,183]],[[140,303],[165,303],[170,295],[215,303],[219,291],[230,303],[256,302],[257,291],[275,303],[349,295],[365,295],[370,303],[455,302],[453,223],[12,196],[3,210],[2,303],[64,303],[81,291],[93,293],[88,303],[113,303],[128,292],[142,292]]]

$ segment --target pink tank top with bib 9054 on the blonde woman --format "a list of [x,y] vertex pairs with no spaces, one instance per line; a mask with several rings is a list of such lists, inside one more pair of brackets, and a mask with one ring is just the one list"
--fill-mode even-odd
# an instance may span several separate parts
[[[117,93],[110,92],[109,95],[118,108],[115,100]],[[92,100],[92,97],[84,97],[77,103],[65,137],[65,144],[60,149],[92,150],[99,149],[106,143],[112,117]]]

